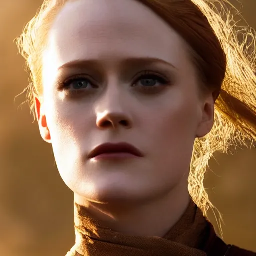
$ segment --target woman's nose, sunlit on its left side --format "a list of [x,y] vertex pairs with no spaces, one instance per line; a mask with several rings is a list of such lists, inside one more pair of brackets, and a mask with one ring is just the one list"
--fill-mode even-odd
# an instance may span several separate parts
[[128,106],[125,106],[125,96],[116,90],[108,90],[96,107],[96,125],[101,129],[132,127]]

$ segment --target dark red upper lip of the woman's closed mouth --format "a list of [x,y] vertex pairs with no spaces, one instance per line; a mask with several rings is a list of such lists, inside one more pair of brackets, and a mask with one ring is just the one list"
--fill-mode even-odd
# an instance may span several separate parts
[[88,154],[88,158],[96,157],[99,154],[103,153],[130,153],[136,156],[142,157],[143,154],[133,145],[125,142],[121,143],[104,143],[97,147],[95,147],[90,153]]

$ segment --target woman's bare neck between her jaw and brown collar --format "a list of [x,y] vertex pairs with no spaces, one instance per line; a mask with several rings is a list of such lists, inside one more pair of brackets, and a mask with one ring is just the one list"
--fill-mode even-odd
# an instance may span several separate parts
[[136,236],[163,237],[187,209],[190,196],[187,183],[181,183],[161,198],[144,203],[97,203],[77,194],[75,203],[99,223],[115,232]]

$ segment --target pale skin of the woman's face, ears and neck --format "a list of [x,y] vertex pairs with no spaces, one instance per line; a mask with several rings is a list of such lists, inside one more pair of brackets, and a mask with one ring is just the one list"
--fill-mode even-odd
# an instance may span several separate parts
[[[115,231],[163,236],[189,203],[194,139],[213,125],[212,93],[200,93],[187,43],[138,1],[72,1],[49,31],[42,77],[40,133],[75,202]],[[105,142],[143,157],[87,158]]]

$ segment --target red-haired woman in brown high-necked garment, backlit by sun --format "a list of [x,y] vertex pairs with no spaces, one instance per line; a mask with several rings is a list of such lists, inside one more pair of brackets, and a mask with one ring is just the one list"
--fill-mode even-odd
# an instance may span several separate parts
[[28,100],[74,192],[67,255],[255,255],[205,217],[209,158],[256,135],[255,36],[223,11],[209,0],[47,0],[27,24],[17,44]]

